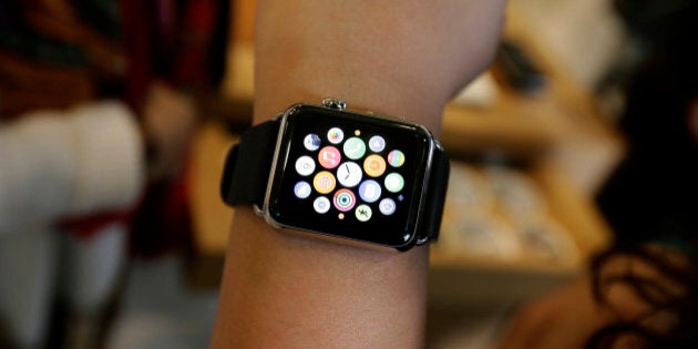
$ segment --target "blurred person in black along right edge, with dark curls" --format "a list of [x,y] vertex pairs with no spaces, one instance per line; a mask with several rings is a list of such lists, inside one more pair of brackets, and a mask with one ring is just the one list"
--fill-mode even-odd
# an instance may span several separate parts
[[629,151],[597,197],[615,244],[524,306],[502,348],[698,347],[698,2],[615,4],[643,50],[624,88]]

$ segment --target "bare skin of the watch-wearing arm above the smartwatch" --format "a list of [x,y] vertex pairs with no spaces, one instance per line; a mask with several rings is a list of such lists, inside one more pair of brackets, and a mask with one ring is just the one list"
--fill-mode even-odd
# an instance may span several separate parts
[[330,93],[438,133],[448,99],[489,63],[503,3],[258,1],[255,121]]

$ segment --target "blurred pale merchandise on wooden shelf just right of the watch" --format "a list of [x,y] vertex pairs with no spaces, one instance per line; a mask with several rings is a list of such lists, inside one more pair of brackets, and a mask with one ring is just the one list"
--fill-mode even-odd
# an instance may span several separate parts
[[579,263],[572,233],[548,211],[542,188],[524,171],[453,162],[449,185],[435,249],[490,260]]

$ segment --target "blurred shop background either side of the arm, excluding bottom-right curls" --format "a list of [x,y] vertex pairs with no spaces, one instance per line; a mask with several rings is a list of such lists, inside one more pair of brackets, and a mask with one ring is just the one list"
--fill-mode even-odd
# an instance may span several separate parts
[[[494,348],[519,305],[614,242],[696,232],[696,8],[510,1],[491,68],[444,111],[429,348]],[[207,346],[233,216],[218,183],[252,121],[254,11],[0,6],[0,348]],[[72,157],[52,165],[65,143]],[[83,150],[102,143],[114,150]],[[43,191],[37,172],[64,182]],[[50,206],[59,194],[83,198]]]

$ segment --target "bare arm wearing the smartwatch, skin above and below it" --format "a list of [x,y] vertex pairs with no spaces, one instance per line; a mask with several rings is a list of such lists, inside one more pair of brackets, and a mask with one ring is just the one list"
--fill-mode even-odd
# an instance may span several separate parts
[[[255,123],[338,96],[439,133],[489,63],[504,1],[259,1]],[[213,348],[423,345],[427,247],[373,250],[233,223]]]

